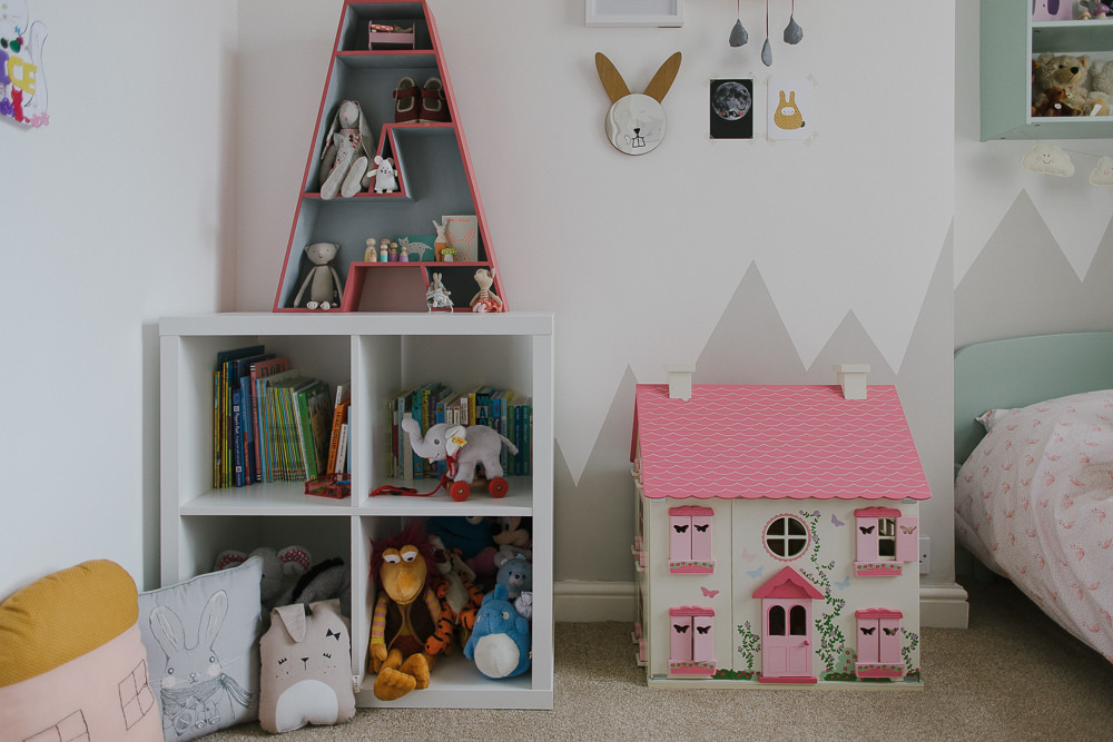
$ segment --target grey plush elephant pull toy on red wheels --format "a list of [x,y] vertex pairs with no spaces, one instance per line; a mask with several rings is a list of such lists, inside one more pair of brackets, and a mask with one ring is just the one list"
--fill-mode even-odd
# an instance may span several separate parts
[[[410,434],[410,446],[414,453],[430,463],[446,462],[449,464],[449,494],[454,501],[463,502],[471,494],[472,485],[481,486],[483,479],[492,497],[504,497],[510,485],[503,478],[502,464],[499,455],[502,447],[512,454],[518,453],[518,446],[499,435],[486,425],[447,425],[437,423],[421,434],[421,425],[413,418],[402,421],[402,429]],[[482,469],[482,478],[477,471]]]

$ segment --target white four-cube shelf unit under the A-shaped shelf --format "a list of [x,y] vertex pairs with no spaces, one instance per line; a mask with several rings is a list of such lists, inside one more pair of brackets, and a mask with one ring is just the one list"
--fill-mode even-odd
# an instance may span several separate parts
[[[301,484],[214,489],[213,372],[216,354],[263,344],[332,386],[352,382],[352,497],[304,495]],[[213,568],[226,548],[301,544],[315,562],[342,556],[352,570],[352,671],[362,706],[551,709],[553,703],[553,317],[543,313],[226,314],[166,317],[160,345],[161,582]],[[375,487],[435,482],[388,479],[386,400],[404,387],[442,380],[481,384],[533,399],[533,476],[509,477],[500,499],[473,492],[454,502],[371,497]],[[429,689],[383,704],[371,692],[366,651],[375,596],[372,542],[427,516],[526,516],[533,534],[533,662],[529,673],[493,681],[459,656],[437,663]]]

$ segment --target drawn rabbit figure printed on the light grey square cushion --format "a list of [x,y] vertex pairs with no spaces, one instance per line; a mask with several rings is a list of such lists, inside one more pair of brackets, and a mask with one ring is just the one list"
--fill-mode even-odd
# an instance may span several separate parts
[[227,725],[254,699],[225,672],[214,645],[228,614],[228,593],[209,596],[197,626],[197,641],[188,643],[181,619],[158,605],[150,612],[150,629],[166,654],[160,700],[162,733],[168,741],[193,739]]

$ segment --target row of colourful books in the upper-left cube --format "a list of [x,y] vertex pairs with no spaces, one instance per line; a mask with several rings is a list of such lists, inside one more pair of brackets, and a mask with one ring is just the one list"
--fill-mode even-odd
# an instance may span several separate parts
[[262,345],[217,354],[213,486],[346,473],[351,384],[313,378]]

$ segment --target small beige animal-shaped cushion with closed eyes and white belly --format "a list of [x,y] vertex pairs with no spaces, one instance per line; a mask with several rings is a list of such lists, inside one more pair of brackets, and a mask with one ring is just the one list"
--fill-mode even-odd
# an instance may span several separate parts
[[272,734],[355,716],[352,643],[339,601],[283,605],[259,642],[259,725]]

